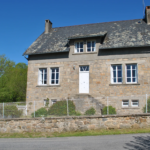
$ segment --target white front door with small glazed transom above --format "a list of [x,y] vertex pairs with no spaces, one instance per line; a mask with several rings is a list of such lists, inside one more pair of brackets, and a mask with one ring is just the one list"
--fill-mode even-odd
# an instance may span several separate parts
[[80,66],[79,93],[89,93],[89,66]]

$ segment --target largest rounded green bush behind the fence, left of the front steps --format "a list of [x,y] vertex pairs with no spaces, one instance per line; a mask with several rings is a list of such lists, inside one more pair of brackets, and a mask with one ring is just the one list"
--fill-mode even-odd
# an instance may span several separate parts
[[[68,101],[69,115],[80,115],[75,111],[75,105],[73,101]],[[48,115],[66,116],[67,115],[67,102],[57,101],[48,110]]]

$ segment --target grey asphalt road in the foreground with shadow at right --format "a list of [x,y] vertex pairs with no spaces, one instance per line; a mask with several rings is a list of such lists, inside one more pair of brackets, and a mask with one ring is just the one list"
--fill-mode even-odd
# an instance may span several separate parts
[[150,134],[0,139],[0,150],[150,150]]

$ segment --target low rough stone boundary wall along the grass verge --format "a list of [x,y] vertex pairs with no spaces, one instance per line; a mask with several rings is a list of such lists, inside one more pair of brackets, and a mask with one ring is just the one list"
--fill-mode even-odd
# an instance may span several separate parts
[[150,127],[150,114],[0,119],[0,133],[67,132]]

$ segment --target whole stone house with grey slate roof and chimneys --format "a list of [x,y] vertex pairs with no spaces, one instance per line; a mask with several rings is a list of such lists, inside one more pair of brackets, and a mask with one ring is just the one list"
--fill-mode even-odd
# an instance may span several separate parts
[[150,6],[145,18],[53,28],[28,55],[27,102],[76,99],[77,108],[109,105],[117,114],[141,113],[150,94]]

